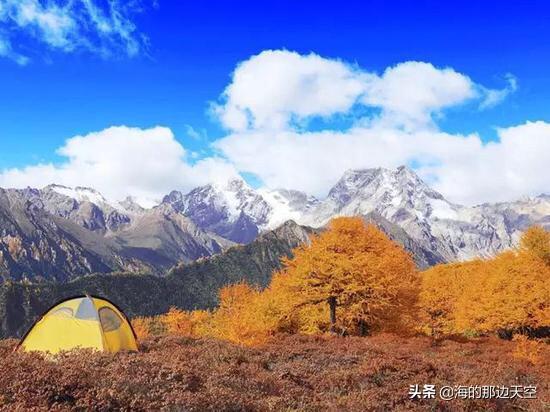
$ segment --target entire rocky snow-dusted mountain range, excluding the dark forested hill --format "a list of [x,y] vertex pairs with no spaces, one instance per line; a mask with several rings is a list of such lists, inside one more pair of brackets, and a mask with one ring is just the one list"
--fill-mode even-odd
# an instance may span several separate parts
[[550,196],[463,206],[405,166],[350,170],[323,199],[254,189],[242,179],[172,191],[152,208],[84,187],[0,189],[0,277],[64,282],[113,271],[162,274],[289,220],[322,228],[335,216],[377,224],[423,268],[491,256],[513,247],[530,225],[550,227]]

